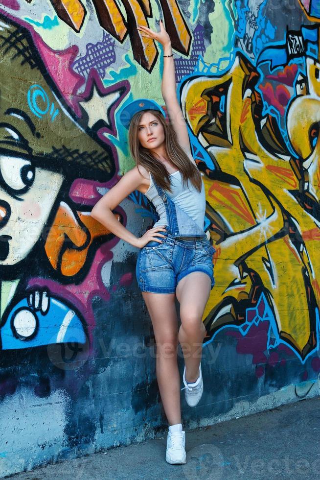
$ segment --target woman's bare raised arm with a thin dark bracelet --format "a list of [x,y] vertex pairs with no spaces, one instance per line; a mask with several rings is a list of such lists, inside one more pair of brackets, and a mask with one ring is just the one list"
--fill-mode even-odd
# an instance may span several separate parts
[[139,25],[138,30],[140,30],[143,37],[157,40],[163,47],[162,97],[171,124],[177,134],[178,142],[190,159],[192,159],[187,126],[177,99],[175,64],[172,56],[170,37],[163,26],[162,20],[160,20],[160,32],[154,32],[151,28],[143,25]]

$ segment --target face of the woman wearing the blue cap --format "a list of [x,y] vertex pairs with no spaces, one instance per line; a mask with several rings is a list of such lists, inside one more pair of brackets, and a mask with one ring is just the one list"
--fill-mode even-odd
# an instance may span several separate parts
[[164,128],[151,112],[145,112],[139,121],[138,139],[142,147],[153,150],[164,143]]

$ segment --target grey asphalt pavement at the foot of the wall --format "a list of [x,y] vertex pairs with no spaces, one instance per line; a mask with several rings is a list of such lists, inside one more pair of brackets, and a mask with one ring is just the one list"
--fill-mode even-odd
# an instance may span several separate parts
[[[302,480],[320,477],[320,398],[186,432],[187,463],[166,437],[11,476],[14,480]],[[8,477],[7,477],[8,478]]]

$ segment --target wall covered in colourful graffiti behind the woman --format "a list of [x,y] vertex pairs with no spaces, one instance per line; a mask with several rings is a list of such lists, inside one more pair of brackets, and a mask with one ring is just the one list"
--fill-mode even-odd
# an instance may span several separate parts
[[[137,30],[161,18],[216,249],[183,423],[319,393],[319,2],[2,0],[2,475],[165,427],[137,248],[90,216],[134,166],[121,109],[163,105],[160,46]],[[156,218],[139,192],[114,215],[137,236]]]

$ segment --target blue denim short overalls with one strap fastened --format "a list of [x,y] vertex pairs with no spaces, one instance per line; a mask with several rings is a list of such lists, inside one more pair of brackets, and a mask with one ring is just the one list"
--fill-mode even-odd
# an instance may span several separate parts
[[[150,174],[151,176],[151,174]],[[153,179],[152,179],[153,180]],[[211,246],[202,228],[175,205],[163,189],[155,183],[165,205],[169,225],[167,232],[159,232],[161,243],[151,240],[141,248],[136,266],[137,283],[141,291],[174,293],[178,282],[188,273],[202,271],[214,286]]]

